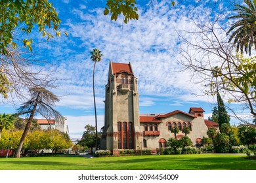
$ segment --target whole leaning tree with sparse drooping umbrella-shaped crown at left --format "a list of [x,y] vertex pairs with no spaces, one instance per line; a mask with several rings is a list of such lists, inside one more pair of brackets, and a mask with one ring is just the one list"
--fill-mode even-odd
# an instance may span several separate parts
[[18,114],[29,114],[26,127],[20,139],[18,149],[16,151],[15,157],[20,158],[20,152],[28,131],[30,130],[30,125],[32,124],[33,116],[39,113],[47,120],[51,118],[60,118],[64,121],[64,117],[56,110],[53,109],[54,103],[58,102],[59,99],[49,90],[45,88],[32,88],[30,89],[31,99],[24,103],[19,109]]

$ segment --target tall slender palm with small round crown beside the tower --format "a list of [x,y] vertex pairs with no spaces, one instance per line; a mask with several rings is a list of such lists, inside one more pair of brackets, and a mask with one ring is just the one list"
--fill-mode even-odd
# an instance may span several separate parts
[[95,66],[96,66],[96,62],[99,62],[101,61],[101,57],[102,57],[102,54],[101,54],[101,51],[98,50],[98,49],[93,49],[93,52],[91,52],[91,59],[95,62],[95,65],[93,67],[93,101],[95,103],[95,130],[96,130],[96,133],[95,133],[95,136],[96,136],[96,141],[95,141],[95,148],[96,150],[98,149],[98,127],[97,127],[97,114],[96,114],[96,102],[95,102]]

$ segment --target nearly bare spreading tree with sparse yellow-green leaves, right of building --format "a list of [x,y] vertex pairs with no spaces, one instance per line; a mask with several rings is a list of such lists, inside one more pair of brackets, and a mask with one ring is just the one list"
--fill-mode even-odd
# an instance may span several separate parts
[[[190,32],[190,37],[196,37],[196,42],[184,38],[187,44],[181,64],[192,71],[196,83],[202,83],[205,95],[223,92],[228,103],[241,103],[244,109],[256,116],[256,57],[245,58],[232,50],[231,43],[221,36],[225,27],[220,27],[223,24],[219,16],[208,20],[204,24],[195,23],[195,29]],[[234,117],[248,122],[236,115],[236,110],[229,109]],[[226,116],[223,111],[219,114]]]

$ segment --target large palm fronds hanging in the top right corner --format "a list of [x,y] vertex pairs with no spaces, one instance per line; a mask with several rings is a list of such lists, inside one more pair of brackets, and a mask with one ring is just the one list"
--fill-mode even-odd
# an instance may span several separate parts
[[230,29],[227,31],[226,35],[230,32],[230,39],[228,42],[233,41],[234,46],[236,46],[237,51],[240,50],[241,53],[249,53],[251,55],[251,47],[253,44],[256,48],[256,1],[244,0],[246,6],[237,5],[234,10],[238,14],[228,17],[228,19],[235,19]]

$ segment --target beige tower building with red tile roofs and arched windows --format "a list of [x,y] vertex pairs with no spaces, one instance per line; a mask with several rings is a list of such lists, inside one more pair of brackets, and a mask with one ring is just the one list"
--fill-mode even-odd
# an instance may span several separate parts
[[174,137],[171,128],[175,125],[180,131],[189,127],[187,136],[194,145],[207,137],[209,127],[218,128],[218,124],[203,118],[203,108],[191,107],[188,112],[175,110],[167,114],[139,114],[138,79],[131,63],[113,63],[110,61],[108,82],[105,95],[105,118],[102,127],[100,148],[112,150],[118,154],[123,149],[156,152],[165,148],[167,140]]

